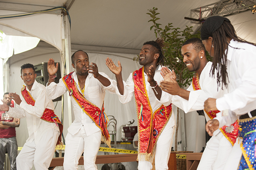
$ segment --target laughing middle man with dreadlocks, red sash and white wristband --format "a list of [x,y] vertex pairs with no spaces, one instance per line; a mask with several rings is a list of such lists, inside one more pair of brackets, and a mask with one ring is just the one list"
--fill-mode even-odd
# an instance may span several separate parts
[[154,154],[155,169],[168,169],[167,163],[176,128],[172,114],[172,95],[163,92],[157,84],[163,80],[160,74],[164,60],[162,47],[163,39],[145,42],[139,54],[139,63],[143,67],[132,72],[126,82],[122,80],[120,61],[117,67],[111,59],[106,59],[106,65],[116,76],[116,93],[121,103],[128,103],[133,94],[135,96],[139,170],[153,168]]

